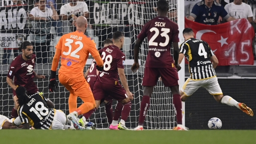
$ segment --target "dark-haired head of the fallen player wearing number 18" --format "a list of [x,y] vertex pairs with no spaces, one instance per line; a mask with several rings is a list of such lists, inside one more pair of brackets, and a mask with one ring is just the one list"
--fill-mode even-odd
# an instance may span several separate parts
[[17,103],[19,104],[19,106],[25,103],[28,103],[30,101],[25,87],[18,86],[15,91],[16,91],[16,96],[18,98]]

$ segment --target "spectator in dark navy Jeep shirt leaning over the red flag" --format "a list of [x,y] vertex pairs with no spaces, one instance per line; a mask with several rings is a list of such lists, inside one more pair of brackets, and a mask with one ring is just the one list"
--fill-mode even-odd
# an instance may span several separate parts
[[217,25],[219,16],[223,17],[226,21],[236,20],[227,14],[221,4],[214,0],[202,0],[194,5],[188,19],[201,24]]

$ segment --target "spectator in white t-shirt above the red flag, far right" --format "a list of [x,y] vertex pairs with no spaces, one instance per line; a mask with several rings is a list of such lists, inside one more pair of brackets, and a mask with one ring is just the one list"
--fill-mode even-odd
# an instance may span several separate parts
[[234,0],[234,2],[226,4],[224,9],[234,18],[246,18],[250,23],[253,22],[253,11],[250,5],[243,3],[242,0]]

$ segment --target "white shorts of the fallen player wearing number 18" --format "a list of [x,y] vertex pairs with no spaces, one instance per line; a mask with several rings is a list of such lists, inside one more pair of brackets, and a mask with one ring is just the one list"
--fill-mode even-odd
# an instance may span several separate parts
[[55,115],[51,123],[51,130],[63,130],[66,124],[66,115],[62,110],[55,110]]

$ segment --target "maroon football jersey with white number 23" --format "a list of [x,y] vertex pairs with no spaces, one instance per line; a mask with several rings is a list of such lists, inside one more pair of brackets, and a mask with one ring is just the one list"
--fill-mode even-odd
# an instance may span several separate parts
[[148,40],[148,55],[145,67],[149,68],[167,68],[172,67],[174,63],[171,55],[172,42],[178,42],[178,25],[167,17],[157,16],[147,22],[138,39]]

